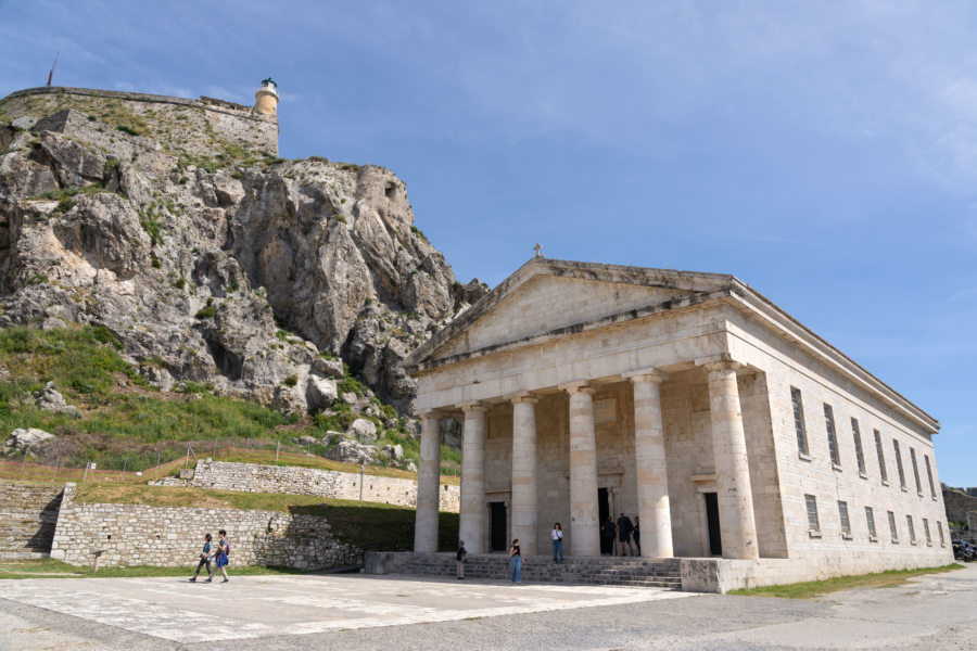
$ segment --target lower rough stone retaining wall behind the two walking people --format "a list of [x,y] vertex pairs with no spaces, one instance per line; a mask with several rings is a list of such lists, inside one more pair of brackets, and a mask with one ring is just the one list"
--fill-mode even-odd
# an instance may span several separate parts
[[73,565],[195,566],[203,536],[226,529],[230,561],[323,570],[348,564],[355,549],[332,536],[316,515],[236,509],[165,508],[144,505],[79,503],[67,484],[51,558]]

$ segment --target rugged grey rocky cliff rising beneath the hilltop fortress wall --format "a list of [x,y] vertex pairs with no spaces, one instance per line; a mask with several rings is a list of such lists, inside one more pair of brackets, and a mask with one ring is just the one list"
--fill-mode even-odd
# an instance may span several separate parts
[[0,101],[0,324],[102,326],[161,387],[294,413],[328,407],[339,356],[410,411],[402,360],[485,289],[455,280],[401,179],[85,101]]

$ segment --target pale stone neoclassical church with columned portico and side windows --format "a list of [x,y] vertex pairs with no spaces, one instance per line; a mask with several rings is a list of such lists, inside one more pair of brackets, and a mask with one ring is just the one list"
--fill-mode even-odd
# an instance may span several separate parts
[[437,548],[456,418],[471,552],[548,553],[560,522],[569,554],[597,556],[624,512],[686,589],[952,560],[939,423],[733,276],[537,256],[407,365],[417,552]]

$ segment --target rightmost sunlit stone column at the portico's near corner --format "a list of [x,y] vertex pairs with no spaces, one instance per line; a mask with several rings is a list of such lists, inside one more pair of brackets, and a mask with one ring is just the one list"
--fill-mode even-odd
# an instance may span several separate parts
[[746,433],[736,384],[737,368],[739,363],[735,361],[706,365],[709,371],[709,417],[712,421],[720,535],[723,558],[757,559],[760,558],[760,550],[753,520]]

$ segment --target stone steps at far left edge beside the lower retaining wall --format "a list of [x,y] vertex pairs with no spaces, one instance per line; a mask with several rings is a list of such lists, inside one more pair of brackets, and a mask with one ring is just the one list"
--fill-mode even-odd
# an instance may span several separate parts
[[62,490],[61,486],[0,484],[0,560],[50,554]]

